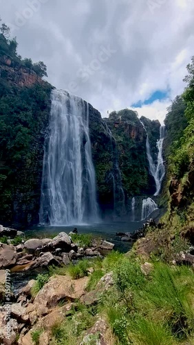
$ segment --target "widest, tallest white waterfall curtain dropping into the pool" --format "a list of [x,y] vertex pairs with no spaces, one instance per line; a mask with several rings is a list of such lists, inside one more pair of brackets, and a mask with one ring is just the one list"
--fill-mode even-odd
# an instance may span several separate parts
[[45,143],[40,223],[98,221],[96,178],[89,139],[89,105],[52,91],[50,136]]

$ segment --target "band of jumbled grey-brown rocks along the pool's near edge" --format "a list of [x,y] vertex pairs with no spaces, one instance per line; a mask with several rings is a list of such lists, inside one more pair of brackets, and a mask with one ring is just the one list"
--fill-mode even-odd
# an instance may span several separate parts
[[101,257],[112,250],[114,244],[103,239],[91,241],[91,247],[79,247],[66,233],[59,233],[54,239],[28,239],[17,246],[0,243],[0,269],[14,268],[30,270],[39,267],[68,265],[82,257]]

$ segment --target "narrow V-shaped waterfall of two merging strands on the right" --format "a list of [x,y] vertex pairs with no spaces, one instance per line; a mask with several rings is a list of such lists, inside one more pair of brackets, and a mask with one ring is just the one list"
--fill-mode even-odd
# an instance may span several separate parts
[[[140,123],[142,124],[144,130],[147,133],[147,129],[145,128],[142,121],[140,121]],[[155,165],[153,162],[153,158],[151,157],[149,136],[147,133],[147,141],[146,141],[147,159],[149,161],[149,172],[153,176],[154,181],[155,181],[155,188],[156,188],[155,194],[154,194],[155,197],[157,195],[159,195],[159,193],[160,193],[162,181],[163,181],[164,175],[165,175],[164,160],[162,157],[164,136],[165,136],[165,126],[160,126],[160,140],[158,140],[157,144],[156,144],[156,146],[158,148],[158,159],[157,159],[157,164]]]

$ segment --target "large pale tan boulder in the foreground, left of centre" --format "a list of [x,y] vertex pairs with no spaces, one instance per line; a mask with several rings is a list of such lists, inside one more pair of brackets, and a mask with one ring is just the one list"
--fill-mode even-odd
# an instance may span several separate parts
[[54,308],[61,299],[72,301],[79,299],[84,293],[89,278],[73,280],[68,276],[55,276],[43,286],[34,299],[32,310],[37,306]]

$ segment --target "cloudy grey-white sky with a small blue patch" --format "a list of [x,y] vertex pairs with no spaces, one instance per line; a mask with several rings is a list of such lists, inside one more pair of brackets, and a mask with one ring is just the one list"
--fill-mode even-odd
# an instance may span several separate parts
[[193,0],[0,0],[18,53],[103,117],[130,108],[161,122],[194,55]]

